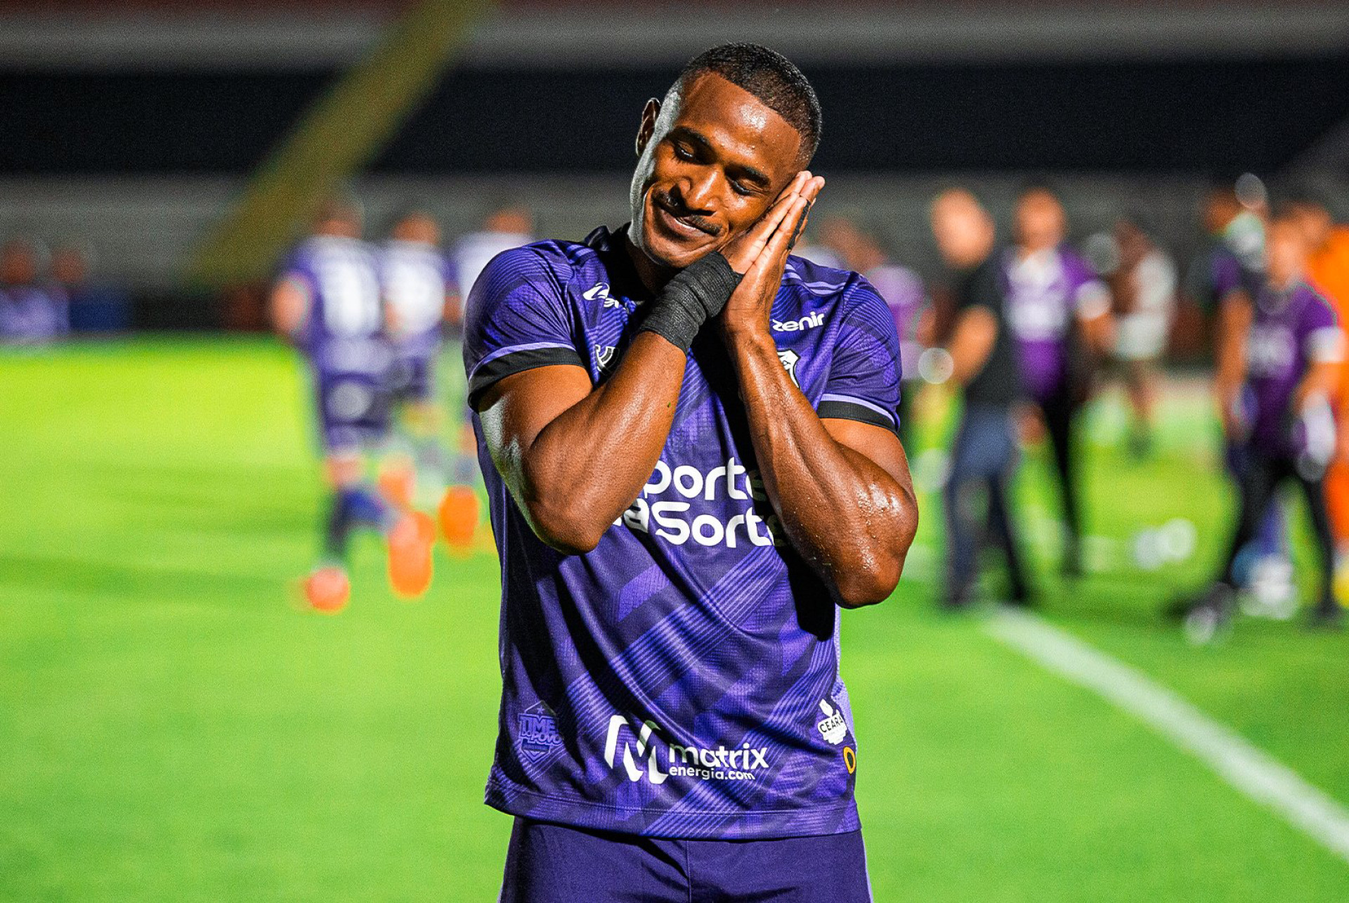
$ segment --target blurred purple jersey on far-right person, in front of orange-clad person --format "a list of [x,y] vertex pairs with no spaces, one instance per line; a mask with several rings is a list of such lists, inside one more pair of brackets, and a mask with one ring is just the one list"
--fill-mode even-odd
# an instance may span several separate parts
[[1246,337],[1251,441],[1273,455],[1292,455],[1292,397],[1314,363],[1338,362],[1344,333],[1334,309],[1304,282],[1269,286],[1256,296]]

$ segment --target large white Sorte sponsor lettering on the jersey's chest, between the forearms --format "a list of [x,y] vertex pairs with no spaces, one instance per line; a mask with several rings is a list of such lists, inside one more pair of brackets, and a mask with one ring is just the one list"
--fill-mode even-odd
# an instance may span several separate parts
[[[746,502],[745,510],[726,520],[711,513],[689,517],[693,502],[722,498]],[[727,548],[784,545],[786,539],[777,514],[759,516],[755,502],[768,502],[764,478],[734,456],[706,472],[689,464],[672,468],[657,460],[650,482],[614,525],[627,525],[673,545],[689,541]]]

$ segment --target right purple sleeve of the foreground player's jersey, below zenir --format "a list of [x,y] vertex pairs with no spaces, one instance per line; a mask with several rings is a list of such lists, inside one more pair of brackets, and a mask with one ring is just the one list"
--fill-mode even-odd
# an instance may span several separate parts
[[834,346],[822,420],[858,420],[897,432],[900,427],[900,337],[889,306],[862,277],[844,290],[843,321]]

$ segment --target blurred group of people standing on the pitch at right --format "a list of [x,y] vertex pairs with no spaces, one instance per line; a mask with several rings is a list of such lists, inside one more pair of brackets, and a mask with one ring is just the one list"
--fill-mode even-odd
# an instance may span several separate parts
[[[1207,243],[1182,281],[1143,213],[1122,215],[1112,234],[1077,247],[1044,184],[1020,192],[1005,238],[970,192],[934,200],[950,279],[932,293],[931,316],[909,314],[905,302],[896,317],[925,346],[912,377],[950,379],[963,401],[943,490],[944,605],[969,605],[985,549],[1005,559],[1004,598],[1035,602],[1008,487],[1020,447],[1037,433],[1048,439],[1059,489],[1063,572],[1082,572],[1081,412],[1117,378],[1133,412],[1130,449],[1147,455],[1157,362],[1176,310],[1188,305],[1191,321],[1209,327],[1222,456],[1238,505],[1214,580],[1168,611],[1195,641],[1229,629],[1238,610],[1290,617],[1296,594],[1279,490],[1295,485],[1319,563],[1310,622],[1340,625],[1334,575],[1349,559],[1349,228],[1336,225],[1315,192],[1269,201],[1255,177],[1214,185],[1201,211]],[[1283,587],[1271,589],[1271,575]],[[1265,602],[1275,610],[1263,611]]]

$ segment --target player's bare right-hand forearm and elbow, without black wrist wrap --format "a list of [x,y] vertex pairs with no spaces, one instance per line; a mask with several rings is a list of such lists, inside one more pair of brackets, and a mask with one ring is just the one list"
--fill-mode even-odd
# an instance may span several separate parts
[[894,591],[917,525],[912,490],[830,436],[766,333],[728,343],[764,489],[788,541],[844,607]]

